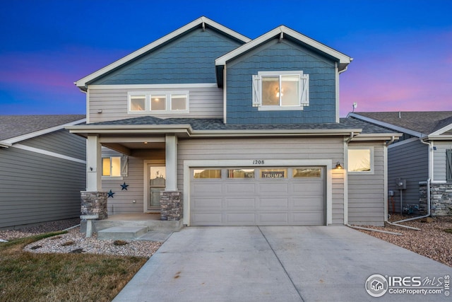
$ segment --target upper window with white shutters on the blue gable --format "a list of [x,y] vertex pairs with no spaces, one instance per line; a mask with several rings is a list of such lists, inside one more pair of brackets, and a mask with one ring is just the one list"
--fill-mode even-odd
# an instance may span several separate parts
[[253,107],[258,110],[303,110],[309,106],[309,74],[259,71],[253,76]]

